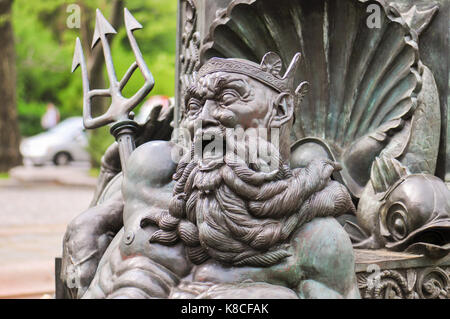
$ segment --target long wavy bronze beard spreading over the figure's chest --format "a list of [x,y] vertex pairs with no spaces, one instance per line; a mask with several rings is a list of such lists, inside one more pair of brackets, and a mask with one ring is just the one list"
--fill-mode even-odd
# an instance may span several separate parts
[[[234,140],[231,146],[230,138],[225,141],[233,155],[248,152],[245,141]],[[299,226],[314,217],[354,211],[345,187],[330,179],[336,163],[315,161],[291,170],[270,142],[257,138],[257,143],[270,150],[278,170],[262,172],[267,157],[259,153],[259,165],[230,153],[208,161],[188,154],[174,175],[169,210],[148,218],[160,228],[150,242],[173,245],[181,239],[195,264],[213,258],[232,266],[264,267],[290,255],[283,243]]]

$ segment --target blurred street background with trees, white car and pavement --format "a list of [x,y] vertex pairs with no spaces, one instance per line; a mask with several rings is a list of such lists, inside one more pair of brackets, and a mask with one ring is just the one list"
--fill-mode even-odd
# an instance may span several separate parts
[[[123,27],[127,7],[143,25],[135,32],[156,84],[135,112],[174,95],[176,0],[0,0],[0,298],[54,293],[54,257],[67,223],[92,199],[109,128],[82,125],[80,71],[70,72],[76,37],[91,88],[109,86],[101,45],[90,49],[99,8],[117,30],[109,37],[120,78],[134,55]],[[135,72],[124,90],[143,84]],[[108,99],[94,100],[102,113]]]

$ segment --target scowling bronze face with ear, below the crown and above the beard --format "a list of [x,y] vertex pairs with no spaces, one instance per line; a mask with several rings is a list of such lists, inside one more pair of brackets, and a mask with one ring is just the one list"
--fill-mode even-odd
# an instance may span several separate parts
[[[201,77],[187,90],[185,105],[183,127],[189,131],[195,145],[203,145],[202,149],[212,136],[226,143],[229,129],[236,129],[234,132],[240,129],[274,143],[281,160],[289,160],[293,118],[290,94],[279,93],[246,75],[215,72]],[[255,145],[250,141],[247,144]],[[259,147],[265,143],[256,144]],[[201,154],[204,157],[205,152]]]

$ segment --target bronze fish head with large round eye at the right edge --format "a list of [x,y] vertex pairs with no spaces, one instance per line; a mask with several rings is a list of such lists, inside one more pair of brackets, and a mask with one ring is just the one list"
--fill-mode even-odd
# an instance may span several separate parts
[[411,174],[381,156],[372,165],[356,219],[344,228],[355,248],[387,248],[442,258],[450,252],[450,190],[436,176]]

